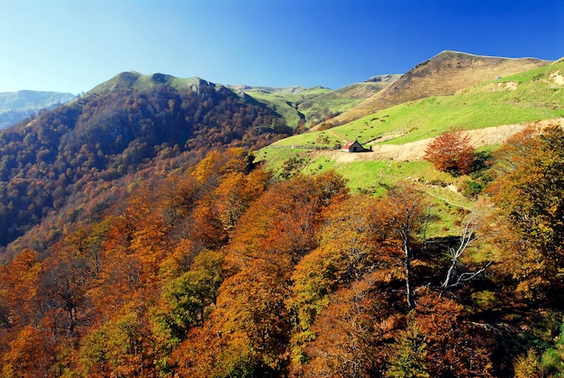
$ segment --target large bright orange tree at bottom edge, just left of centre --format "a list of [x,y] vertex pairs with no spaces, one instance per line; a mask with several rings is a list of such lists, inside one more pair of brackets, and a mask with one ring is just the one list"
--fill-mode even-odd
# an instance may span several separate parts
[[254,259],[223,281],[216,309],[177,347],[172,362],[184,376],[265,376],[284,366],[287,288],[277,267]]

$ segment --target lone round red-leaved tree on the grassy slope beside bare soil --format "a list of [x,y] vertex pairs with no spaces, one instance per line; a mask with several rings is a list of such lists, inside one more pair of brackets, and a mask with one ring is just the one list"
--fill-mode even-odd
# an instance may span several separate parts
[[436,170],[468,174],[472,171],[476,154],[468,134],[454,131],[437,136],[427,146],[424,159]]

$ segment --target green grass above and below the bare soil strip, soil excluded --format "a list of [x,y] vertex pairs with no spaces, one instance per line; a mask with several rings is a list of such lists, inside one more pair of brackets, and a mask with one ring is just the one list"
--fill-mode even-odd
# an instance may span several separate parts
[[[323,152],[346,140],[361,143],[404,144],[445,133],[453,127],[478,129],[502,124],[520,124],[564,116],[564,61],[513,76],[488,80],[453,96],[429,97],[393,106],[330,130],[289,137],[258,152],[268,167],[281,174],[323,172],[333,169],[350,180],[352,189],[378,192],[398,180],[441,182],[436,196],[450,202],[462,197],[445,189],[459,187],[462,180],[432,169],[425,161],[354,161],[347,152]],[[368,155],[368,154],[367,154]],[[445,202],[446,203],[446,202]]]

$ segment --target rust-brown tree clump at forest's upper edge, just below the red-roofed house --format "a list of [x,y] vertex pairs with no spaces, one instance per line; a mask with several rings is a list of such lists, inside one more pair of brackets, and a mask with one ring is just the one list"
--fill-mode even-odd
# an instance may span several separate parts
[[347,193],[345,180],[333,171],[269,187],[241,217],[225,256],[226,269],[237,271],[251,259],[268,255],[289,275],[317,245],[315,232],[323,208]]

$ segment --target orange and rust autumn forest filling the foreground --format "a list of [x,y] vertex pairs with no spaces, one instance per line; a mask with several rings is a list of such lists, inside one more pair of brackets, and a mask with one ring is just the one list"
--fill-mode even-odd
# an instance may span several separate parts
[[2,374],[561,373],[563,141],[515,135],[444,239],[411,182],[276,181],[242,148],[159,167],[0,268]]

